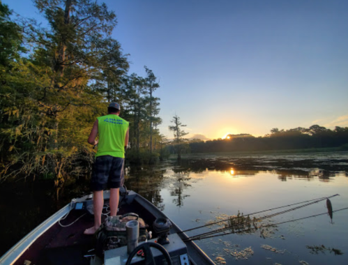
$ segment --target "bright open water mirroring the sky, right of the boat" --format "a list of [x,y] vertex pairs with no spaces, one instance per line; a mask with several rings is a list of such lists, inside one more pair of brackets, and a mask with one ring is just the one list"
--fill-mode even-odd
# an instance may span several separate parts
[[[181,183],[172,181],[182,178],[168,170],[165,176],[165,188],[160,190],[164,212],[182,229],[204,225],[217,217],[236,215],[238,211],[254,213],[263,209],[292,204],[330,196],[336,193],[340,197],[331,199],[333,209],[348,206],[348,178],[337,174],[322,181],[317,177],[312,179],[297,176],[275,174],[274,172],[211,172],[187,174]],[[273,222],[281,222],[294,218],[305,217],[326,212],[326,202],[292,211],[272,218]],[[281,211],[281,210],[278,210]],[[262,216],[262,215],[259,215]],[[213,259],[224,257],[227,264],[234,257],[230,251],[240,252],[251,247],[254,254],[248,259],[241,260],[243,264],[296,264],[304,260],[309,264],[348,264],[348,210],[333,213],[333,224],[328,215],[279,225],[268,238],[260,238],[259,232],[254,234],[232,234],[203,239],[198,245]],[[213,229],[212,227],[211,229]],[[209,229],[199,229],[188,234],[195,235]],[[273,253],[261,248],[271,245],[285,253]],[[338,248],[344,255],[310,254],[307,245],[325,245],[326,248]],[[227,250],[226,250],[227,249]]]

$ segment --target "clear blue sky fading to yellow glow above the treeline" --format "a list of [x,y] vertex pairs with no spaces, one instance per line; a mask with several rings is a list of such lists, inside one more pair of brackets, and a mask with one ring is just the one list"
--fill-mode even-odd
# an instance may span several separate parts
[[[30,0],[3,0],[40,17]],[[160,79],[160,130],[190,137],[348,126],[348,1],[108,0],[130,73]]]

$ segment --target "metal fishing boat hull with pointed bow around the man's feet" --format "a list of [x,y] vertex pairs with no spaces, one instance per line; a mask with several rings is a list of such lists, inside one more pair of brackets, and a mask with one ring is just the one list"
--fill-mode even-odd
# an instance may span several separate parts
[[[22,265],[25,260],[29,260],[33,264],[66,264],[63,253],[70,253],[71,259],[76,257],[76,262],[71,264],[89,264],[89,260],[80,252],[86,252],[91,248],[87,241],[91,242],[92,236],[83,234],[85,228],[93,225],[93,216],[86,214],[82,216],[82,211],[76,211],[77,203],[88,202],[91,204],[91,195],[73,199],[72,202],[63,209],[54,213],[50,218],[38,225],[33,231],[24,237],[20,242],[13,246],[0,259],[0,265]],[[109,192],[104,192],[105,202],[109,199]],[[129,191],[127,195],[120,197],[120,211],[134,212],[141,216],[146,223],[152,224],[157,218],[168,218],[151,202],[138,195],[136,192]],[[73,225],[63,228],[60,227],[58,221],[65,215],[68,218],[65,223],[76,220],[79,215],[83,218],[73,223]],[[169,219],[169,218],[168,218]],[[171,221],[172,222],[172,221]],[[188,239],[188,236],[174,222],[169,234],[177,234],[181,241]],[[193,241],[184,243],[190,259],[190,264],[211,264],[214,262],[195,244]],[[81,256],[81,257],[80,257]]]

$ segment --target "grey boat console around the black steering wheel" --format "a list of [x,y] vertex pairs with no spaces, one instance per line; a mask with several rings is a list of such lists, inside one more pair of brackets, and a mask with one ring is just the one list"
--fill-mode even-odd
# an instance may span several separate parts
[[[169,243],[162,245],[165,250],[169,253],[170,258],[172,259],[173,265],[189,265],[188,260],[188,251],[186,244],[180,239],[177,234],[168,235]],[[156,242],[157,239],[151,239],[149,242]],[[139,243],[141,245],[142,243]],[[160,250],[152,248],[153,258],[156,262],[156,265],[167,264],[164,255]],[[140,253],[139,253],[140,254]],[[121,248],[115,248],[114,250],[106,250],[104,255],[104,264],[105,265],[125,265],[127,263],[129,255],[127,254],[127,246]],[[145,257],[142,255],[135,255],[130,264],[144,264]]]

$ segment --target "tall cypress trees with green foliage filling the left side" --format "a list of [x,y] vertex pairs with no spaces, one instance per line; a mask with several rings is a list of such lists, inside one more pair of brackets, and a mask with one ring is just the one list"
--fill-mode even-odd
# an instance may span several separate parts
[[91,172],[86,140],[109,101],[121,103],[133,126],[136,156],[158,159],[156,77],[148,68],[146,78],[126,75],[127,55],[111,38],[114,12],[91,0],[33,2],[47,28],[11,21],[0,2],[0,181],[43,176],[60,187],[68,176]]

